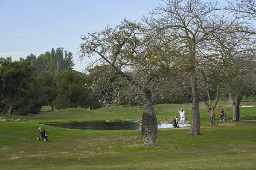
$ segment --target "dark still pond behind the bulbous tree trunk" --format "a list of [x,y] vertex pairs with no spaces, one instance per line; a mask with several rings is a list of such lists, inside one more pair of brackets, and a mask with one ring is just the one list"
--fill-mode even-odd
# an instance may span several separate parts
[[[72,123],[49,123],[46,125],[64,127],[69,129],[83,129],[83,130],[134,130],[141,129],[141,123],[137,122],[72,122]],[[180,125],[181,126],[181,125]],[[190,126],[184,124],[184,126]],[[173,127],[169,123],[158,123],[157,128]]]

